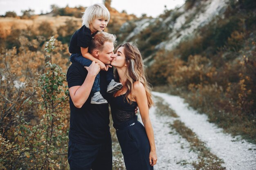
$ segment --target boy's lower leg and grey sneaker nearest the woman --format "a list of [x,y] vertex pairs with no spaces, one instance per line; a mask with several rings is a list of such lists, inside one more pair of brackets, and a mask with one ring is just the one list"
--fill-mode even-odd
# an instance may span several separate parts
[[114,80],[113,67],[108,68],[106,78],[108,82],[108,88],[107,88],[108,93],[115,93],[119,91],[121,88],[123,88],[123,84],[115,82]]

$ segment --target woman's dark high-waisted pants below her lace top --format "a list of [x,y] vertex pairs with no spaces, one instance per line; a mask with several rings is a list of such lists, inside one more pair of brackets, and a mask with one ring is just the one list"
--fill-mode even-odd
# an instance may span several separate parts
[[149,163],[150,145],[144,126],[137,119],[126,124],[133,125],[116,128],[119,129],[116,133],[126,170],[153,170]]

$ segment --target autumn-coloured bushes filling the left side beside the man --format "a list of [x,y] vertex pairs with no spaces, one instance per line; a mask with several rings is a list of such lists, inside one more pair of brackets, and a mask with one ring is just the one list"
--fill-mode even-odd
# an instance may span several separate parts
[[17,46],[1,49],[0,166],[67,169],[68,90],[58,66],[67,69],[67,45],[51,38],[44,57],[43,38],[29,40],[29,31],[19,32]]

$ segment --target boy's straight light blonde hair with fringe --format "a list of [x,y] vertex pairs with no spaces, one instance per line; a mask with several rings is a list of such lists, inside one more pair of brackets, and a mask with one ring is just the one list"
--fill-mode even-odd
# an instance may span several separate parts
[[92,21],[95,20],[95,18],[101,18],[103,17],[104,20],[110,20],[110,13],[108,9],[103,4],[93,4],[89,7],[87,7],[83,13],[83,25],[85,25],[87,28],[90,28],[90,24],[92,24]]

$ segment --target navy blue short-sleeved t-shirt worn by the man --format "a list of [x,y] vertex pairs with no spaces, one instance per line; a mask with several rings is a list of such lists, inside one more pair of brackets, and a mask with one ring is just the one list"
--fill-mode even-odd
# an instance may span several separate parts
[[[100,71],[101,95],[110,99],[107,91],[106,71]],[[81,86],[88,71],[74,62],[67,71],[68,87]],[[91,91],[91,89],[88,89]],[[76,108],[70,97],[70,131],[69,139],[75,143],[93,145],[104,142],[110,137],[108,104],[91,104],[91,97],[81,108]]]

